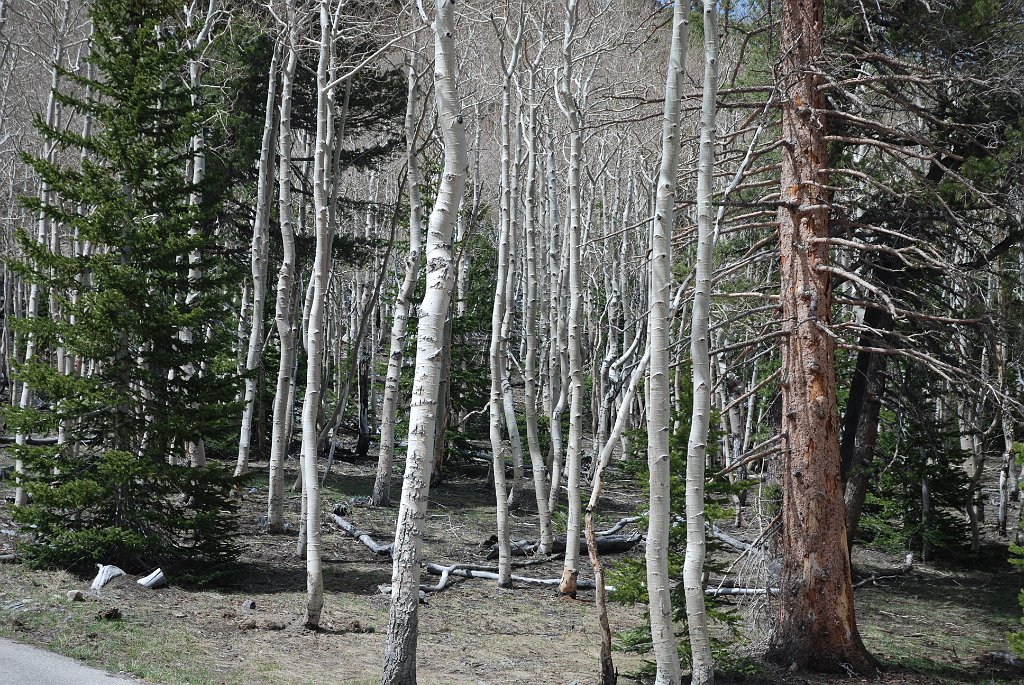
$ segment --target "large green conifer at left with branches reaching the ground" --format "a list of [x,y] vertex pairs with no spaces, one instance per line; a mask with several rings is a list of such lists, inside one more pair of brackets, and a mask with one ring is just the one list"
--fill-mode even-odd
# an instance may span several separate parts
[[[18,323],[42,351],[20,380],[51,411],[8,420],[25,432],[62,423],[67,441],[19,447],[33,503],[17,516],[35,526],[30,556],[39,563],[205,573],[236,553],[230,482],[215,466],[179,465],[180,455],[186,441],[222,436],[238,413],[236,379],[224,371],[233,367],[224,304],[232,274],[216,245],[216,179],[186,180],[207,113],[193,104],[172,0],[94,0],[90,15],[95,76],[66,73],[71,88],[58,101],[92,117],[92,132],[37,122],[58,149],[84,151],[83,162],[25,156],[51,188],[26,205],[66,249],[23,233],[15,267],[61,315]],[[72,236],[90,249],[72,254]],[[50,363],[58,347],[75,360],[72,373]]]

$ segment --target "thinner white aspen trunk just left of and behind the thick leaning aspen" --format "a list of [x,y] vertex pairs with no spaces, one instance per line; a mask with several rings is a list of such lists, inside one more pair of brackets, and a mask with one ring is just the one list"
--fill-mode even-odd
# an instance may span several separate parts
[[406,331],[409,311],[420,276],[420,253],[423,250],[423,202],[420,199],[420,163],[416,153],[416,104],[418,94],[417,54],[419,47],[413,34],[413,49],[409,62],[409,91],[406,105],[406,157],[409,165],[409,255],[406,257],[406,276],[394,303],[391,324],[391,351],[388,355],[387,376],[384,380],[384,405],[381,409],[381,449],[377,459],[377,477],[371,503],[386,507],[391,501],[391,465],[394,462],[394,424],[398,411],[398,379],[404,355]]

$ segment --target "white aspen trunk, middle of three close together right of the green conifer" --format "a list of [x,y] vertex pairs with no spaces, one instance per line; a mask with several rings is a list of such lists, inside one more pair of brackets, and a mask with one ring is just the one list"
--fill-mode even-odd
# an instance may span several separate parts
[[281,359],[278,366],[276,392],[270,432],[269,488],[267,526],[270,532],[285,529],[285,457],[291,441],[292,399],[295,395],[295,228],[292,216],[292,87],[298,68],[298,29],[295,0],[286,0],[287,55],[281,73],[281,111],[279,115],[278,212],[281,222],[283,258],[278,271],[274,325],[278,328]]

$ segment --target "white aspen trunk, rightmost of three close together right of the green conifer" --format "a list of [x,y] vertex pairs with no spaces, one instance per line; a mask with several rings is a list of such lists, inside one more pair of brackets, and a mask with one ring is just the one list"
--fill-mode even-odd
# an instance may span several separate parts
[[319,478],[316,469],[316,419],[321,408],[324,324],[327,309],[328,275],[331,270],[331,208],[328,165],[334,130],[332,88],[328,74],[332,61],[334,32],[330,0],[321,0],[319,61],[316,66],[316,145],[313,152],[313,212],[316,255],[313,260],[312,297],[309,306],[306,396],[302,402],[302,491],[306,503],[306,612],[307,628],[319,626],[324,609],[324,573],[321,565]]

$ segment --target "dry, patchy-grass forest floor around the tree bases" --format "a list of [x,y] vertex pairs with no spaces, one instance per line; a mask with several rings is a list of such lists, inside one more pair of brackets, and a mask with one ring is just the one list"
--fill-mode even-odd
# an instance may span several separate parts
[[[6,465],[0,457],[0,466]],[[493,532],[494,490],[483,471],[452,469],[431,489],[424,556],[437,563],[483,561],[480,543]],[[300,685],[377,683],[387,630],[390,562],[333,525],[325,525],[327,603],[323,628],[302,627],[305,566],[294,556],[294,532],[263,531],[266,470],[256,468],[245,491],[244,547],[240,572],[216,589],[170,587],[151,591],[135,576],[116,579],[96,594],[89,579],[58,571],[34,571],[19,564],[0,565],[0,637],[40,645],[112,672],[134,674],[169,685]],[[395,508],[359,506],[370,494],[373,466],[336,464],[324,491],[325,503],[348,502],[347,518],[387,543],[393,536]],[[400,477],[393,481],[397,500]],[[3,497],[12,483],[0,482]],[[639,488],[632,476],[613,473],[602,499],[603,521],[632,514]],[[526,493],[528,502],[531,495]],[[298,521],[299,499],[288,499],[288,520]],[[513,516],[513,538],[534,538],[526,511]],[[10,505],[0,505],[0,555],[16,540]],[[753,536],[732,530],[750,540]],[[1008,649],[1005,634],[1019,627],[1017,593],[1024,573],[1007,563],[1006,541],[986,536],[987,545],[969,564],[915,563],[908,572],[880,580],[856,591],[857,615],[868,649],[885,666],[880,680],[889,685],[1024,682],[1024,671],[991,655]],[[630,555],[642,557],[642,549]],[[605,558],[608,564],[625,555]],[[584,555],[586,558],[586,555]],[[900,555],[870,549],[855,553],[860,575],[887,575]],[[582,576],[590,566],[583,563]],[[516,572],[556,577],[555,560]],[[424,577],[434,583],[434,576]],[[68,591],[82,590],[72,602]],[[243,603],[255,602],[255,609]],[[584,685],[598,681],[599,636],[593,593],[578,600],[548,589],[500,590],[493,582],[461,580],[429,595],[420,612],[419,682],[423,685],[522,683]],[[642,606],[610,604],[611,626],[624,632],[642,625]],[[121,617],[98,615],[117,607]],[[788,673],[760,662],[757,648],[742,633],[736,663],[742,673],[720,682],[825,685],[848,677]],[[630,680],[645,657],[614,653],[620,682]],[[723,674],[724,676],[724,674]],[[643,682],[642,680],[640,682]]]

